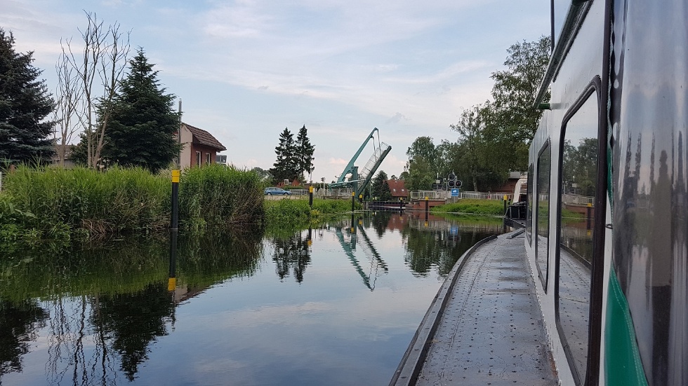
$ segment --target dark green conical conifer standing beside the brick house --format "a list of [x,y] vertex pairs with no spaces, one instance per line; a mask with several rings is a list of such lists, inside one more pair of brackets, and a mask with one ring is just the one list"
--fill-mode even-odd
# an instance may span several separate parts
[[157,172],[179,154],[174,137],[179,130],[179,113],[173,109],[175,96],[165,93],[153,67],[143,48],[138,48],[112,104],[98,105],[98,118],[104,120],[110,115],[102,148],[104,158]]

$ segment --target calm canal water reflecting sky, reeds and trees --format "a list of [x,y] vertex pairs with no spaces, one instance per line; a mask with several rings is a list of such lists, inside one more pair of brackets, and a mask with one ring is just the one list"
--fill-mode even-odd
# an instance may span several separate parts
[[0,259],[1,385],[386,385],[456,260],[501,222],[356,214]]

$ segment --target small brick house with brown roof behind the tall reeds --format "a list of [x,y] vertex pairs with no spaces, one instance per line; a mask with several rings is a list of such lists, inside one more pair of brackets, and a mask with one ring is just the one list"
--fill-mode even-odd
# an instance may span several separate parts
[[218,152],[227,150],[211,133],[187,123],[181,125],[181,142],[182,169],[216,163]]

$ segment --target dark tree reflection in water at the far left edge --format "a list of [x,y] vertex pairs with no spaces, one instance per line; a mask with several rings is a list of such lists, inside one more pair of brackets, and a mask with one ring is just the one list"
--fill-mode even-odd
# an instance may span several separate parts
[[13,304],[0,299],[0,380],[3,374],[22,371],[22,355],[29,352],[29,342],[36,340],[36,330],[47,317],[35,301]]

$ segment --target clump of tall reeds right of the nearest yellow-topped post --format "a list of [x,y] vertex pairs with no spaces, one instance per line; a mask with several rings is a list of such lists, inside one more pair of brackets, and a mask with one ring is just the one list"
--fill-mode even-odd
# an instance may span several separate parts
[[263,186],[251,171],[224,165],[194,167],[182,173],[179,208],[186,228],[260,222]]

